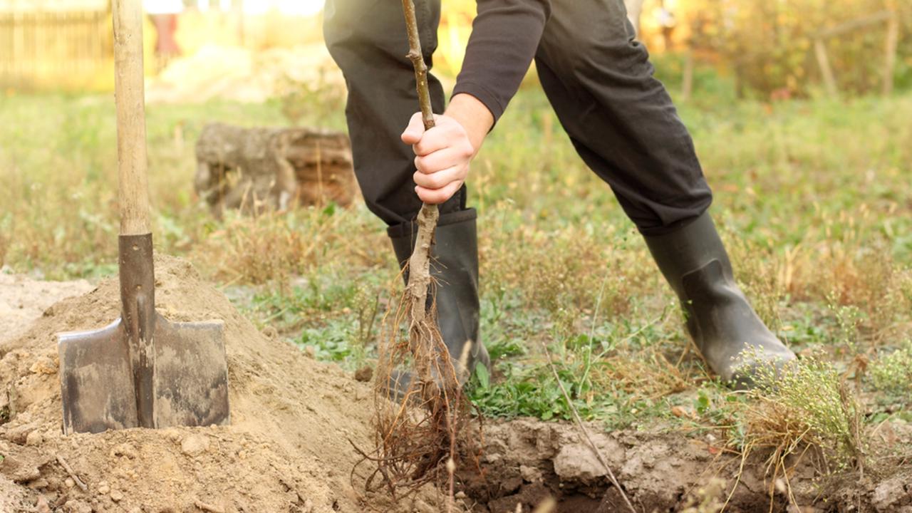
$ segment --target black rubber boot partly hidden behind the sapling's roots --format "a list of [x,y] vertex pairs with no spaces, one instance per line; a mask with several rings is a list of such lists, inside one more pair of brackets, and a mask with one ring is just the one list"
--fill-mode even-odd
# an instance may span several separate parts
[[[438,284],[437,322],[440,335],[450,350],[456,375],[462,383],[469,379],[478,364],[491,369],[491,358],[478,336],[480,312],[475,218],[475,209],[440,215],[434,246],[430,251],[430,274]],[[390,226],[387,230],[399,266],[404,267],[409,261],[417,230],[418,225],[413,223]],[[468,354],[463,355],[467,344],[471,347]],[[398,388],[405,390],[408,376],[403,372],[397,379]]]

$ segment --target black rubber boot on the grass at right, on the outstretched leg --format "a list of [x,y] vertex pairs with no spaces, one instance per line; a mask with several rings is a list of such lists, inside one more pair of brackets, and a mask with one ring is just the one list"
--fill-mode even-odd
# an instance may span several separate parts
[[709,214],[662,236],[646,236],[649,251],[678,294],[687,328],[713,372],[747,389],[758,367],[777,372],[795,355],[772,334],[741,288]]

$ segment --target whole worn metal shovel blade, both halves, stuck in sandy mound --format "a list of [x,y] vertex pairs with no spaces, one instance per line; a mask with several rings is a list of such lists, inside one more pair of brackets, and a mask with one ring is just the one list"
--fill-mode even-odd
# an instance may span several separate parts
[[[151,427],[228,424],[223,321],[171,322],[155,312]],[[130,344],[121,319],[58,335],[64,432],[139,426]]]

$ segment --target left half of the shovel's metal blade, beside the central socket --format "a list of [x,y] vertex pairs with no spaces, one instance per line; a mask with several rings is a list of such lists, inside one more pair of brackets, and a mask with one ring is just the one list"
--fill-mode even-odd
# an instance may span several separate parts
[[136,427],[136,395],[122,319],[100,330],[57,335],[63,431]]

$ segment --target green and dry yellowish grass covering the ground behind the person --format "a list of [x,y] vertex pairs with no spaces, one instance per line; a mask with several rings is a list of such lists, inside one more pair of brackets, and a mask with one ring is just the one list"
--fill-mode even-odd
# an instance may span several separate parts
[[[809,384],[847,377],[874,397],[862,423],[912,421],[899,400],[912,381],[912,95],[720,98],[698,97],[681,116],[736,276],[762,318],[794,350],[822,354],[821,366],[772,403],[715,382],[633,225],[575,156],[544,95],[523,90],[470,179],[482,336],[494,360],[491,375],[472,381],[484,414],[569,418],[536,349],[544,340],[575,407],[609,427],[710,430],[757,446],[751,436],[806,416],[796,408]],[[287,124],[283,111],[282,101],[150,106],[156,246],[190,258],[261,326],[355,369],[373,355],[378,316],[401,287],[380,223],[363,205],[217,222],[192,192],[205,122]],[[341,111],[294,112],[300,124],[344,126]],[[106,96],[0,98],[3,265],[48,278],[116,271],[113,123]],[[751,408],[762,413],[753,422]],[[823,445],[845,436],[821,429]]]

